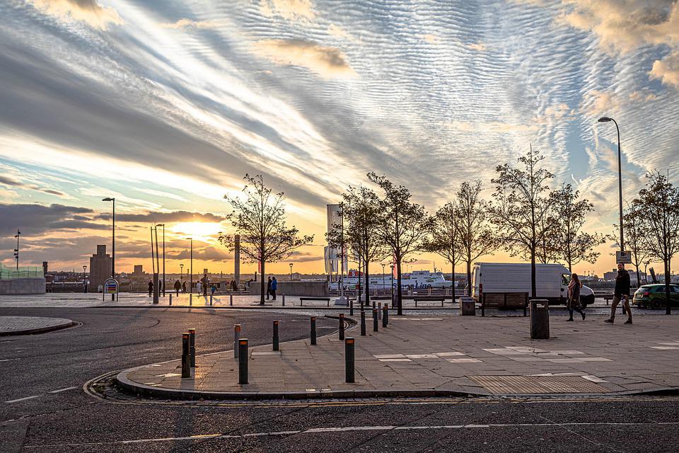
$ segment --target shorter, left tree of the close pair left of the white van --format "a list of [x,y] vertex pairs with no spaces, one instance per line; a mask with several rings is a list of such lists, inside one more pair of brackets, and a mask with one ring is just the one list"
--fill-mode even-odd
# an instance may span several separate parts
[[434,217],[431,217],[429,230],[431,234],[425,241],[427,251],[442,256],[451,263],[453,272],[453,287],[451,289],[455,302],[455,265],[462,262],[463,244],[460,241],[460,217],[458,207],[453,202],[447,202],[439,207]]

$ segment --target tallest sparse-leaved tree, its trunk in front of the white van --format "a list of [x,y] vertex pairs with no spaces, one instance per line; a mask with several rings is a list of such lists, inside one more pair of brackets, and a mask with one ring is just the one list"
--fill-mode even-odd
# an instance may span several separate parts
[[495,200],[489,209],[491,222],[497,228],[497,236],[506,251],[512,256],[530,256],[531,297],[536,297],[535,255],[542,237],[550,225],[544,222],[548,214],[547,202],[549,185],[547,182],[554,174],[540,163],[544,156],[538,151],[530,151],[518,159],[522,168],[510,164],[495,168],[497,185]]

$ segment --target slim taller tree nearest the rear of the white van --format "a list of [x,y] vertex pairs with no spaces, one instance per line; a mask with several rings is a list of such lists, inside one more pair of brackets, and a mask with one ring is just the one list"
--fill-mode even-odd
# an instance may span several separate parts
[[[462,183],[457,193],[455,212],[452,213],[458,219],[456,224],[458,225],[460,258],[467,265],[467,295],[470,295],[472,290],[472,263],[480,256],[492,253],[498,246],[497,238],[487,221],[487,203],[480,198],[481,190],[480,180],[476,180],[473,184]],[[438,216],[439,213],[436,214]],[[446,259],[452,263],[450,258]],[[455,280],[454,274],[453,280]]]

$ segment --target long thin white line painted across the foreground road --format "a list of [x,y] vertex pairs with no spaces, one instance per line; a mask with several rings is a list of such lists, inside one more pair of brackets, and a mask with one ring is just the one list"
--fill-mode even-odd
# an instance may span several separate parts
[[496,428],[554,428],[555,426],[674,426],[679,422],[654,422],[654,423],[632,423],[632,422],[574,422],[574,423],[492,423],[488,425],[424,425],[424,426],[345,426],[328,428],[310,428],[308,430],[294,431],[272,431],[272,432],[249,432],[242,435],[231,434],[203,434],[182,437],[157,437],[155,439],[134,439],[134,440],[114,440],[112,442],[87,442],[71,444],[45,444],[45,445],[24,445],[25,449],[43,449],[45,447],[91,447],[96,445],[127,445],[144,444],[152,442],[176,442],[178,440],[205,440],[205,439],[243,439],[246,437],[267,437],[267,436],[287,436],[298,434],[324,434],[327,432],[356,432],[356,431],[414,431],[414,430],[484,430]]

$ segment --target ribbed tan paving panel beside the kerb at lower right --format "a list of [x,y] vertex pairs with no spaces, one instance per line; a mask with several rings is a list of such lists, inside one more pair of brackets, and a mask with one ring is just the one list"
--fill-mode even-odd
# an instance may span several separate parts
[[601,394],[609,390],[581,376],[468,376],[492,394]]

